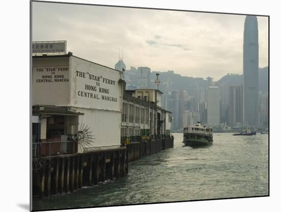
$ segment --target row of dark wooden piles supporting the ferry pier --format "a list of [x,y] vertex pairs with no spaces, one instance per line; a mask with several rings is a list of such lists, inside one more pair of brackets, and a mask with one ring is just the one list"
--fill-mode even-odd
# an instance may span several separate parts
[[128,174],[128,163],[174,146],[174,138],[132,142],[117,150],[33,158],[32,194],[73,192]]

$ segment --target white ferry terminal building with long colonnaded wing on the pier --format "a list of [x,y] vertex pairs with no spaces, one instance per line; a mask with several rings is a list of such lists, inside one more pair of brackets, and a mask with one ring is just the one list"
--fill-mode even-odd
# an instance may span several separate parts
[[[33,56],[32,142],[65,142],[51,153],[34,145],[33,155],[118,149],[126,139],[169,136],[171,112],[161,108],[162,93],[125,86],[122,72],[72,54]],[[81,137],[84,143],[69,147],[67,141]]]

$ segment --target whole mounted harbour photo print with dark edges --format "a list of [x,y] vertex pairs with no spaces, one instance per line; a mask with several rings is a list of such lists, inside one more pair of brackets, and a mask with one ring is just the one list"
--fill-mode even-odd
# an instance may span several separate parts
[[31,210],[269,196],[269,16],[31,1]]

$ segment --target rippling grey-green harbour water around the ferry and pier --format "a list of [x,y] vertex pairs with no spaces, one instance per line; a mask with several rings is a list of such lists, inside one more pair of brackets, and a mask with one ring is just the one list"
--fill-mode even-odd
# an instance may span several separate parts
[[71,194],[33,198],[33,210],[268,195],[268,135],[214,133],[210,146],[182,146],[129,164],[126,177]]

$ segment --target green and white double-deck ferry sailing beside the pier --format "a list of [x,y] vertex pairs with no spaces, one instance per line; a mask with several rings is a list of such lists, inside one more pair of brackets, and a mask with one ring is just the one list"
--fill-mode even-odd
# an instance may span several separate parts
[[213,143],[213,129],[197,122],[183,129],[183,141],[185,146],[201,146]]

